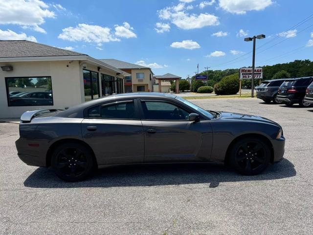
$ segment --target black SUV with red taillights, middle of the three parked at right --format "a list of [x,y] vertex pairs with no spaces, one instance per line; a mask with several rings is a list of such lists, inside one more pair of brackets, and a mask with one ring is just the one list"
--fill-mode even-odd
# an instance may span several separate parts
[[291,106],[298,103],[301,107],[309,107],[311,103],[304,100],[307,87],[313,82],[313,77],[286,79],[278,89],[277,100]]

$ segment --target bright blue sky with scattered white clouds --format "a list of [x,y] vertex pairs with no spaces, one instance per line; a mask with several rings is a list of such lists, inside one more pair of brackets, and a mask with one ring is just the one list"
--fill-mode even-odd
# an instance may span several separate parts
[[312,0],[0,0],[0,40],[37,41],[185,78],[198,63],[200,71],[250,66],[252,43],[244,37],[261,33],[267,38],[257,40],[257,66],[312,60],[313,16],[292,27],[312,9]]

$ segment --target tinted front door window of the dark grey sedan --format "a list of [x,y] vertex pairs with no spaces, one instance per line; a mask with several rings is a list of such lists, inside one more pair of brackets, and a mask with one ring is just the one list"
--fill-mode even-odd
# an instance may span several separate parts
[[189,113],[178,106],[161,101],[141,102],[144,119],[151,120],[189,120]]

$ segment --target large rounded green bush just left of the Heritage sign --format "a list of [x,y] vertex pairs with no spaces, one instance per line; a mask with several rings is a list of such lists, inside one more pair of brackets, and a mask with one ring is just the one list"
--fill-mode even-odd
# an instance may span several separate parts
[[237,94],[239,92],[238,74],[231,74],[222,78],[222,80],[214,86],[215,94]]

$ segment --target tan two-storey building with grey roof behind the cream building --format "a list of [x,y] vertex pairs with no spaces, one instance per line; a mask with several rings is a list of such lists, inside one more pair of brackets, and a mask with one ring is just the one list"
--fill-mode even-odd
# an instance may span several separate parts
[[132,74],[125,77],[125,93],[153,92],[153,72],[150,68],[115,59],[101,59],[101,61]]

